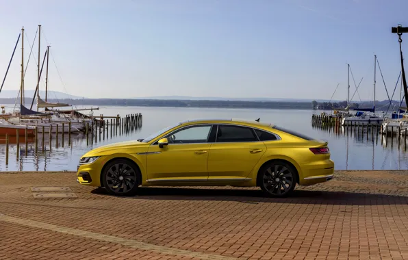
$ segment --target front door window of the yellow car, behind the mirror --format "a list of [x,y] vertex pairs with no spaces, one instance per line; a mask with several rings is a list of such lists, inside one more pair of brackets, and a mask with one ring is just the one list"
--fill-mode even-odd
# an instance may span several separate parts
[[171,144],[197,144],[208,142],[211,125],[194,126],[181,129],[167,136]]

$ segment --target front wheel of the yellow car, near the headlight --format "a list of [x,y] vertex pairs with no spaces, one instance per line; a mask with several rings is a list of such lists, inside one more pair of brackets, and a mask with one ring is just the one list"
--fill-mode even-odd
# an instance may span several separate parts
[[133,196],[141,183],[140,171],[133,161],[115,159],[110,161],[102,172],[105,190],[116,196]]

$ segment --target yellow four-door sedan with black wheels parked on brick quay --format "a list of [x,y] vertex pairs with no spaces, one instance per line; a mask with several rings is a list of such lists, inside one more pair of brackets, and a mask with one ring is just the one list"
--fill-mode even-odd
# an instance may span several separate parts
[[95,148],[81,157],[77,181],[115,195],[136,194],[140,185],[231,185],[283,197],[333,172],[327,142],[262,122],[207,119]]

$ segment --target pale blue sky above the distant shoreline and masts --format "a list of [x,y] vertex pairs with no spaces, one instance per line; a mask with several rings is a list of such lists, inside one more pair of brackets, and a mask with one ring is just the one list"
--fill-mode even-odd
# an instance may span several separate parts
[[[21,27],[30,41],[25,38],[27,61],[41,24],[51,44],[49,89],[90,98],[330,99],[340,83],[334,99],[346,99],[349,63],[357,83],[364,77],[361,99],[372,99],[373,55],[392,92],[400,63],[391,27],[408,26],[406,0],[0,0],[0,5],[1,79]],[[41,40],[43,56],[47,42]],[[408,34],[404,40],[408,57]],[[37,45],[33,53],[38,60]],[[26,89],[36,87],[34,57]],[[4,90],[18,90],[20,62],[21,45]],[[351,86],[353,93],[353,81]],[[377,98],[386,99],[379,73]]]

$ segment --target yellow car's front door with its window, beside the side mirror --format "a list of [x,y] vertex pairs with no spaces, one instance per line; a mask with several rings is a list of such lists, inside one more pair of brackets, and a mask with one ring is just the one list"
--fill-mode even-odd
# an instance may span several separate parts
[[193,125],[170,133],[168,145],[152,144],[147,154],[148,182],[207,181],[212,125]]

